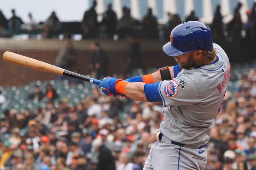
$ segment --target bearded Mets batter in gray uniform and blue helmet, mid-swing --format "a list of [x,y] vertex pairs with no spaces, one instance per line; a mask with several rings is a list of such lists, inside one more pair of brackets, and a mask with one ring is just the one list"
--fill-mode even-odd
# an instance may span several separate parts
[[164,120],[143,170],[204,169],[205,144],[229,82],[228,56],[198,21],[176,26],[170,38],[163,50],[178,65],[125,81],[107,77],[100,88],[107,95],[163,101]]

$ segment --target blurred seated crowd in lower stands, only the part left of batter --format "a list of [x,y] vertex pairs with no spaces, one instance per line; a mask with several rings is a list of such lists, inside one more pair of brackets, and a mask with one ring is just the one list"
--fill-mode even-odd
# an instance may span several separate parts
[[[75,106],[46,85],[31,100],[45,107],[5,110],[0,119],[0,169],[140,170],[156,141],[162,103],[103,95],[98,89]],[[125,113],[124,113],[125,112]]]

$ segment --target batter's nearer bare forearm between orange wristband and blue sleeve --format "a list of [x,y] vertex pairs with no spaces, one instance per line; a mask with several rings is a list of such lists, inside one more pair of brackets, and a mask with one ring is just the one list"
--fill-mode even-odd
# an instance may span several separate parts
[[127,84],[125,86],[126,96],[133,100],[148,102],[144,92],[144,85],[142,82]]

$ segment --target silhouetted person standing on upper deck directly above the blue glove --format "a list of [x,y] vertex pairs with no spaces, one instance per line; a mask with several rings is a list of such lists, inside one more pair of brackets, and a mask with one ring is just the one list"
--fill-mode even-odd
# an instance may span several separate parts
[[112,4],[108,4],[108,10],[103,14],[101,24],[105,27],[107,37],[113,39],[116,33],[117,17],[116,12],[112,10]]

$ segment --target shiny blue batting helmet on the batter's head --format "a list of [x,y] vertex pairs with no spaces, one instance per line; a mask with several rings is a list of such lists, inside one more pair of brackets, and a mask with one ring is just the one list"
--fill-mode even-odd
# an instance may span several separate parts
[[173,28],[170,42],[163,46],[167,55],[178,56],[197,49],[212,51],[212,32],[199,21],[184,22]]

